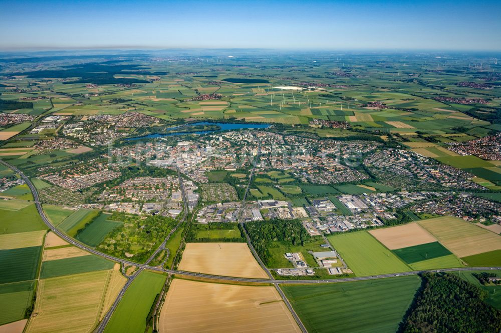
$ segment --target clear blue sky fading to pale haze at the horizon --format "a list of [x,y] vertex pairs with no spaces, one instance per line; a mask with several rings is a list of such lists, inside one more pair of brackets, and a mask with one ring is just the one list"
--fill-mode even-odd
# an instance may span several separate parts
[[501,1],[0,0],[0,49],[501,49]]

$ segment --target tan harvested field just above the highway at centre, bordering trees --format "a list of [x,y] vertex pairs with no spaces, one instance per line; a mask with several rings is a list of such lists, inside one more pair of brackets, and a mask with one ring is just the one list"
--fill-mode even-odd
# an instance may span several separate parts
[[179,270],[268,278],[246,243],[187,243]]

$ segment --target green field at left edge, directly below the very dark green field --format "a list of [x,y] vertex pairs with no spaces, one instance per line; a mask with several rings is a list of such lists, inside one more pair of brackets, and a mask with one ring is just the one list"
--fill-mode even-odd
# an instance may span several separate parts
[[35,281],[0,284],[0,325],[23,319],[31,304]]

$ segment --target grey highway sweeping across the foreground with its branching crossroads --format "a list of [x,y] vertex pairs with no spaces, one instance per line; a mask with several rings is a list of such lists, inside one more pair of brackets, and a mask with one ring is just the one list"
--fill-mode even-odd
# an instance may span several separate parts
[[[444,269],[433,269],[433,270],[415,270],[415,271],[407,271],[407,272],[391,273],[391,274],[380,274],[380,275],[359,276],[359,277],[343,277],[343,278],[322,279],[322,280],[314,280],[314,279],[304,279],[304,280],[287,280],[287,279],[286,280],[276,280],[276,279],[273,278],[273,276],[271,276],[270,271],[266,267],[264,267],[264,264],[261,261],[261,258],[259,258],[259,256],[257,255],[254,247],[252,246],[252,244],[250,244],[250,239],[248,238],[247,234],[246,234],[246,238],[247,238],[247,242],[249,243],[249,248],[252,250],[253,254],[256,256],[256,259],[258,259],[258,262],[264,267],[265,271],[267,271],[268,274],[269,274],[269,276],[271,276],[270,279],[266,279],[266,278],[244,278],[244,277],[232,277],[232,276],[219,276],[219,275],[203,274],[203,273],[189,272],[189,271],[183,271],[183,270],[165,269],[165,268],[163,268],[161,266],[158,267],[158,266],[151,266],[151,265],[148,265],[148,264],[137,263],[137,262],[133,262],[133,261],[130,261],[130,260],[118,258],[118,257],[112,256],[112,255],[109,255],[109,254],[97,251],[96,249],[94,249],[92,247],[89,247],[86,244],[81,243],[78,240],[76,240],[76,239],[68,236],[64,232],[60,231],[59,229],[57,229],[54,226],[54,224],[51,223],[51,221],[49,221],[49,219],[47,218],[45,212],[43,211],[43,209],[42,209],[42,203],[40,201],[40,197],[39,197],[37,188],[35,187],[35,185],[33,185],[33,183],[31,182],[31,180],[21,170],[19,170],[14,165],[9,164],[9,163],[7,163],[6,161],[4,161],[2,159],[0,159],[0,163],[3,164],[3,165],[5,165],[5,166],[7,166],[7,167],[9,167],[9,168],[11,168],[11,169],[13,169],[17,173],[19,173],[19,175],[23,178],[23,180],[25,180],[25,182],[28,184],[28,186],[30,187],[30,189],[31,189],[31,191],[33,193],[34,201],[35,201],[35,204],[36,204],[36,207],[37,207],[37,211],[40,214],[40,217],[42,218],[42,220],[44,221],[44,223],[49,227],[49,229],[52,232],[54,232],[55,234],[57,234],[58,236],[60,236],[64,240],[66,240],[67,242],[75,245],[76,247],[79,247],[79,248],[81,248],[83,250],[86,250],[86,251],[88,251],[88,252],[90,252],[92,254],[99,255],[101,257],[104,257],[106,259],[122,263],[124,265],[134,265],[134,266],[138,266],[140,268],[140,269],[138,269],[136,271],[136,273],[134,273],[134,275],[132,275],[132,276],[130,276],[128,278],[128,281],[126,282],[124,288],[120,291],[117,299],[115,300],[115,302],[113,303],[112,307],[110,308],[110,311],[108,311],[108,313],[105,315],[105,318],[101,321],[101,323],[98,326],[98,328],[96,328],[97,332],[102,332],[104,330],[104,327],[105,327],[106,323],[108,322],[109,318],[111,317],[111,314],[113,313],[113,311],[116,309],[118,303],[120,302],[120,300],[123,297],[125,291],[127,290],[127,287],[132,283],[134,277],[137,276],[137,274],[140,271],[142,271],[143,269],[149,269],[149,270],[158,271],[158,272],[165,272],[165,273],[170,273],[170,274],[174,274],[174,275],[218,279],[218,280],[221,280],[221,281],[240,281],[240,282],[272,283],[272,284],[277,285],[277,286],[279,284],[316,284],[316,283],[336,283],[336,282],[347,282],[347,281],[362,281],[362,280],[385,278],[385,277],[394,277],[394,276],[416,275],[416,274],[420,274],[420,273],[424,273],[424,272],[437,272],[437,271],[450,272],[450,271],[475,271],[475,270],[501,270],[501,266],[493,266],[493,267],[462,267],[462,268],[444,268]],[[254,170],[254,168],[253,168],[253,170]],[[249,181],[250,181],[250,179],[249,179]],[[183,198],[184,198],[185,197],[185,195],[184,195],[184,187],[182,187],[182,191],[183,191]],[[186,204],[186,202],[185,202],[185,204]],[[244,202],[243,202],[243,204],[244,204]],[[184,216],[184,218],[185,218],[185,216]],[[280,290],[280,288],[278,288],[277,290]],[[280,290],[279,293],[281,294],[281,296],[283,297],[284,301],[288,305],[289,309],[291,310],[291,313],[293,313],[293,315],[296,317],[297,315],[296,315],[295,311],[292,309],[292,306],[290,305],[289,301],[287,300],[287,298],[283,294],[282,290]],[[299,322],[301,322],[301,321],[299,321]],[[301,325],[300,325],[300,327],[301,327]]]

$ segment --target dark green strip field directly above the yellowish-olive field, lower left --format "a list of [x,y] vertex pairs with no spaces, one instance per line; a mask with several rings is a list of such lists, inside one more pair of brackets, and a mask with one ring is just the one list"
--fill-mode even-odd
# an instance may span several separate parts
[[85,273],[113,268],[115,262],[97,255],[83,255],[72,258],[44,261],[40,278]]

